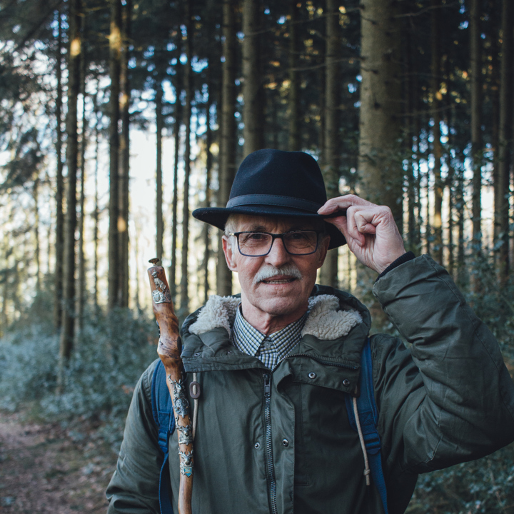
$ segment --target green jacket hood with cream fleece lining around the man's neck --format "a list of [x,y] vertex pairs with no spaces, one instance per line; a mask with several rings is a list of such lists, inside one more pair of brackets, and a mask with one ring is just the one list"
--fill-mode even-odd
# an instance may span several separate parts
[[[241,298],[211,296],[205,306],[186,318],[182,326],[182,359],[186,371],[263,368],[231,342],[231,326]],[[291,353],[360,368],[361,351],[371,327],[371,316],[350,293],[315,286],[301,341]]]

